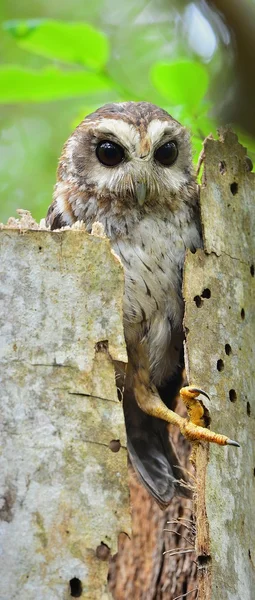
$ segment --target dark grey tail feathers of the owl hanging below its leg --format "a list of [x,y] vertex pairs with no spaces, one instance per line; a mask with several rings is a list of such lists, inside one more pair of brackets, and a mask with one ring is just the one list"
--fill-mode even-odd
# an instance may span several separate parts
[[129,457],[149,493],[162,509],[167,508],[174,495],[191,498],[167,423],[145,414],[130,391],[124,394],[123,409]]

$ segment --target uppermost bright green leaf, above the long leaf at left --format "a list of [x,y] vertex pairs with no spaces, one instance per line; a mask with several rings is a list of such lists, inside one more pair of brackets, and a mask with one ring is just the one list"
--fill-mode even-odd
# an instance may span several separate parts
[[3,25],[24,50],[61,62],[105,66],[109,43],[104,33],[87,23],[67,23],[46,19],[6,21]]

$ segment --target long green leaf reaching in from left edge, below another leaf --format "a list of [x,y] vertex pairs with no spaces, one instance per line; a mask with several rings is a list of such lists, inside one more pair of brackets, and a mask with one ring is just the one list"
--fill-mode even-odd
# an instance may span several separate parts
[[32,71],[22,67],[0,67],[0,103],[47,102],[77,98],[113,89],[103,75],[86,71],[61,71],[50,67]]

